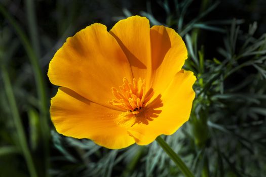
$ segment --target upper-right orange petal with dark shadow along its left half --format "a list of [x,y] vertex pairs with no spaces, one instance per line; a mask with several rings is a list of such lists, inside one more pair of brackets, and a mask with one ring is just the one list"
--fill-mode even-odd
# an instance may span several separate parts
[[162,93],[174,75],[181,70],[187,59],[187,50],[182,38],[171,28],[150,28],[153,89]]

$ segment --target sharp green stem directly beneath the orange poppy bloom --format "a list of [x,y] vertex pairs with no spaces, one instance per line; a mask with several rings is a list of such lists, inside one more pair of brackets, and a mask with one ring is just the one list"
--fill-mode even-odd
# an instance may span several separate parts
[[187,168],[182,159],[172,150],[172,148],[162,139],[162,137],[156,138],[157,143],[163,148],[163,150],[169,155],[169,157],[175,162],[176,166],[182,171],[184,176],[194,177],[191,170]]

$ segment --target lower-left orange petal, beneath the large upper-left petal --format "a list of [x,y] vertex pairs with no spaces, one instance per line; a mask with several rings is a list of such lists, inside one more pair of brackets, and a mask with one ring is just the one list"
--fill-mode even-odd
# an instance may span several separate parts
[[135,143],[116,123],[120,111],[93,103],[65,87],[60,87],[51,100],[50,113],[56,130],[65,136],[91,139],[110,149]]

